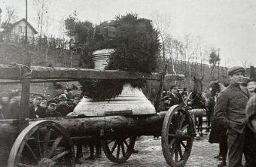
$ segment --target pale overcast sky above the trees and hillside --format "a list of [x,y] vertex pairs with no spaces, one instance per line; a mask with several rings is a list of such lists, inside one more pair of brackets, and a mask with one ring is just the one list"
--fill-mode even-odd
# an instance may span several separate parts
[[[34,0],[29,2],[29,23],[36,28]],[[200,37],[207,48],[221,48],[221,65],[256,66],[256,1],[251,0],[48,0],[49,32],[56,35],[62,20],[78,11],[80,20],[100,23],[117,14],[133,12],[151,19],[158,12],[170,17],[169,33],[181,38]],[[17,19],[25,17],[25,0],[0,0],[0,8],[17,8]]]

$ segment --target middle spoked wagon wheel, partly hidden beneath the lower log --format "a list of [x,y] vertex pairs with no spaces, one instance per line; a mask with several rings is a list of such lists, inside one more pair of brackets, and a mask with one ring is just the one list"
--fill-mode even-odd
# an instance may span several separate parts
[[111,135],[110,139],[102,140],[102,149],[105,156],[107,156],[111,162],[123,163],[126,162],[133,153],[135,141],[135,135],[127,136],[115,133]]

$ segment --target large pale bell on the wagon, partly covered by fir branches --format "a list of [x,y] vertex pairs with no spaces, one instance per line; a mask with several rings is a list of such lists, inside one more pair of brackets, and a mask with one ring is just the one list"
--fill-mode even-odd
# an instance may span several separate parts
[[[113,49],[103,49],[93,52],[95,69],[103,70],[113,51]],[[126,84],[123,86],[123,91],[119,96],[108,101],[95,102],[84,97],[69,116],[141,115],[155,113],[154,105],[148,101],[142,90]]]

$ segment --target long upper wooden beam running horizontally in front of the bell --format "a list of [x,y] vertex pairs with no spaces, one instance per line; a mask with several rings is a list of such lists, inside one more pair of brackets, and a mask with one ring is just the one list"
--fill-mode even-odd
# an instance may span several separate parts
[[[21,66],[20,66],[21,67]],[[32,66],[32,79],[146,79],[161,80],[161,74],[130,73],[117,70],[95,70],[87,68],[62,68]],[[21,68],[11,65],[0,65],[0,79],[20,80]],[[166,80],[183,80],[183,74],[168,74]]]

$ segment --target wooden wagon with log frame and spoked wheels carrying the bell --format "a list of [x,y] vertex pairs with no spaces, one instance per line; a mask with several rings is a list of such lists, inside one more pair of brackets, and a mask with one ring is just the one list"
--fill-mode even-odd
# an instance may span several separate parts
[[[123,163],[132,154],[136,137],[141,135],[161,135],[166,162],[170,166],[183,166],[190,156],[195,135],[191,114],[200,112],[188,111],[182,105],[154,114],[133,115],[120,111],[119,114],[108,112],[100,117],[28,119],[29,83],[84,78],[144,78],[163,83],[164,76],[165,80],[184,78],[183,75],[165,75],[164,72],[147,75],[126,71],[1,65],[0,79],[5,79],[8,84],[22,83],[22,96],[19,119],[0,120],[0,166],[75,166],[74,143],[93,138],[100,138],[108,159]],[[160,99],[161,90],[160,87],[157,99]]]

